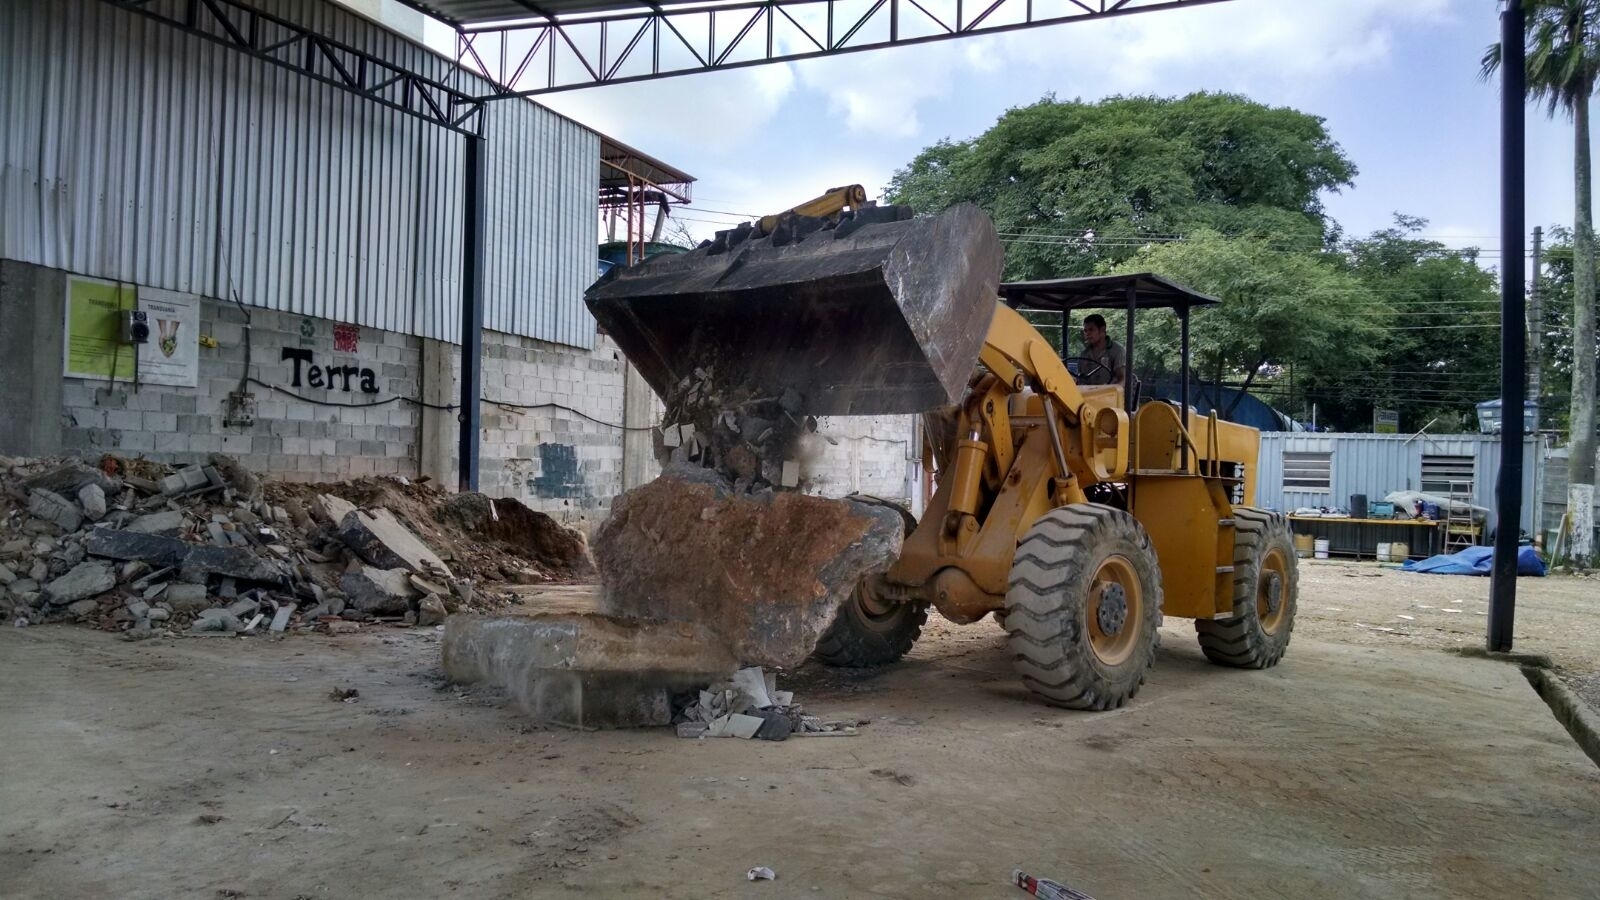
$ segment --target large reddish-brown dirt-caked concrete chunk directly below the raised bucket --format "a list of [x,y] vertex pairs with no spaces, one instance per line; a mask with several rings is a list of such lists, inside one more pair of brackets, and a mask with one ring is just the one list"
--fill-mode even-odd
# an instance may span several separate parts
[[733,493],[672,471],[619,496],[595,533],[602,609],[706,623],[747,666],[811,655],[862,575],[899,556],[899,512],[800,493]]

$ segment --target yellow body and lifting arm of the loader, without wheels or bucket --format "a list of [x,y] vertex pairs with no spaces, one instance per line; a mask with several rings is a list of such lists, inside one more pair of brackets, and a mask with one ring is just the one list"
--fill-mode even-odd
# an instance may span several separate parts
[[1130,416],[1120,386],[1080,388],[1006,306],[995,306],[981,364],[954,416],[955,447],[941,452],[941,429],[926,429],[938,492],[878,589],[952,621],[1003,610],[1022,535],[1093,492],[1149,532],[1166,615],[1230,615],[1232,509],[1254,501],[1261,434],[1160,400]]

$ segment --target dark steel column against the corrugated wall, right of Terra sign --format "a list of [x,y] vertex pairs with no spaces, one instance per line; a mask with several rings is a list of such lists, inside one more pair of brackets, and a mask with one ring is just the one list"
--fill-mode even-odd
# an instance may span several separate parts
[[467,138],[461,234],[461,440],[458,482],[478,490],[478,434],[483,396],[483,138]]

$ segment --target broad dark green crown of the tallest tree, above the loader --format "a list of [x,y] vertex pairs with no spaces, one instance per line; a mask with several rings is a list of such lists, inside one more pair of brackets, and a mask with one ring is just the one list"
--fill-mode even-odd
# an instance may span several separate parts
[[926,147],[885,192],[925,213],[976,203],[1006,242],[1006,277],[1050,279],[1202,227],[1315,250],[1333,234],[1323,192],[1354,178],[1322,119],[1197,93],[1045,98]]

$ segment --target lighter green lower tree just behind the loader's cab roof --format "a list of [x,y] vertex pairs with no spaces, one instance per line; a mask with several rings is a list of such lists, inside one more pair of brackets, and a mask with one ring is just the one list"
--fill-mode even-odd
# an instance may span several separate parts
[[[1283,405],[1278,372],[1293,368],[1299,380],[1342,391],[1352,375],[1381,364],[1387,307],[1336,256],[1200,229],[1146,245],[1115,271],[1155,272],[1222,301],[1195,311],[1190,323],[1195,376],[1213,384],[1262,386]],[[1176,322],[1149,317],[1138,338],[1141,376],[1178,370]]]

